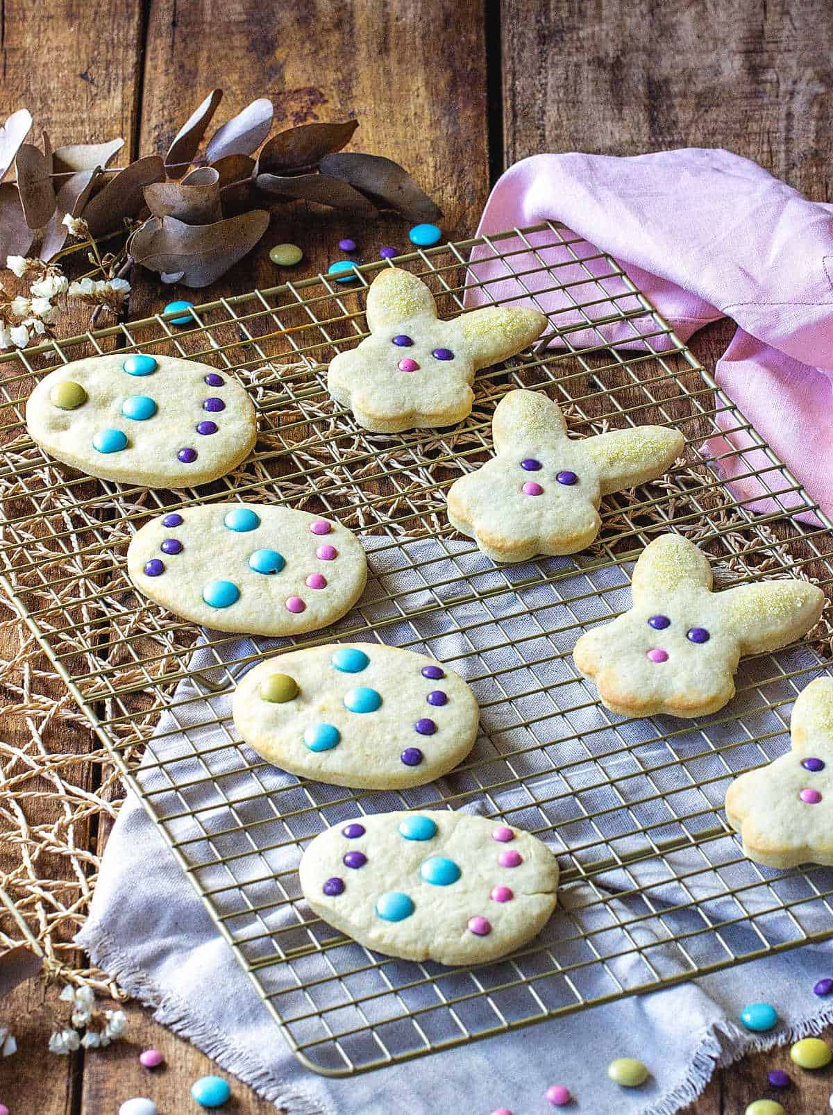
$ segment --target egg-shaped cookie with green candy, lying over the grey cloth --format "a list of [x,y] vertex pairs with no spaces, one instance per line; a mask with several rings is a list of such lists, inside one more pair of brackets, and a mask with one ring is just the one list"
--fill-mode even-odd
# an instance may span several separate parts
[[333,643],[261,662],[234,694],[234,724],[255,752],[337,786],[398,789],[438,778],[472,749],[477,702],[424,655]]

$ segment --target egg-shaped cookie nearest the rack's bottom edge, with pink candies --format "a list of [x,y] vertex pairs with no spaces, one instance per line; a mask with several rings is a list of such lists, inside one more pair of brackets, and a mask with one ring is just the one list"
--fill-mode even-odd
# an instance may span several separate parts
[[521,828],[451,811],[400,811],[316,836],[300,878],[314,912],[359,944],[404,960],[474,964],[543,928],[559,865]]

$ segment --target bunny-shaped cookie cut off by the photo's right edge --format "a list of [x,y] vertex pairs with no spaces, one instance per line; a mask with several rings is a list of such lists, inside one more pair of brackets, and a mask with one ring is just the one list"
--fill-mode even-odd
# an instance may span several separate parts
[[792,750],[742,774],[726,816],[744,855],[767,867],[833,866],[833,678],[811,681],[793,706]]

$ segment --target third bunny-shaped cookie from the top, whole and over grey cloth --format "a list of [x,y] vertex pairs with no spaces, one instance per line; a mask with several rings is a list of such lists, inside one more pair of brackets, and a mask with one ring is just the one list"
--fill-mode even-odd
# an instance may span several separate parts
[[819,621],[824,593],[806,581],[759,581],[711,591],[711,568],[696,545],[664,534],[633,570],[633,604],[588,631],[573,660],[613,712],[691,717],[735,696],[742,655],[785,647]]

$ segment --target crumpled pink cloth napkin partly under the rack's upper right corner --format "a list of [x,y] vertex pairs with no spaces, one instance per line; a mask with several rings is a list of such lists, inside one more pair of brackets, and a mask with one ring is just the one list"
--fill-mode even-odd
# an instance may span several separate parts
[[[565,292],[541,297],[569,338],[554,343],[598,343],[598,334],[582,329],[588,317],[574,303],[599,298],[591,277],[609,269],[603,259],[588,256],[601,250],[682,340],[709,321],[733,318],[739,328],[718,361],[717,382],[811,497],[833,514],[833,205],[806,201],[756,163],[726,151],[687,148],[633,158],[535,155],[500,178],[478,235],[543,220],[565,224],[574,233],[565,239],[575,242],[539,253],[534,249],[551,242],[551,234],[533,235],[527,244],[513,241],[512,270],[520,278],[506,278],[506,264],[488,248],[476,250],[473,273],[487,285],[469,292],[471,304],[523,301],[551,285],[541,272],[524,277],[543,259],[568,283]],[[500,249],[506,252],[506,241]],[[621,280],[601,282],[611,295],[627,291]],[[635,298],[617,298],[616,304],[638,309]],[[610,309],[600,302],[592,316]],[[636,324],[645,333],[650,319]],[[631,326],[600,329],[611,345],[645,347]],[[650,343],[668,348],[661,334]],[[753,501],[757,512],[781,504],[817,523],[801,510],[804,498],[785,491],[783,475],[755,448],[754,437],[736,429],[732,413],[718,421],[724,436],[708,448],[735,494]],[[748,475],[767,466],[763,477]],[[767,491],[777,493],[777,502]]]

